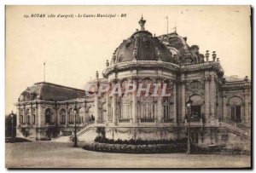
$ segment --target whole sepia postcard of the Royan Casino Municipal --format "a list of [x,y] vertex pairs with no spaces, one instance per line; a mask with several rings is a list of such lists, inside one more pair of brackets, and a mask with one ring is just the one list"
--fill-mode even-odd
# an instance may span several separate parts
[[14,6],[6,168],[251,168],[250,6]]

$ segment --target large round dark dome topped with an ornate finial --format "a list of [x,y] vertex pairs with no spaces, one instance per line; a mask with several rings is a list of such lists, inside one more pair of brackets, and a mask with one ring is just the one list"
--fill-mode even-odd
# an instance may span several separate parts
[[113,53],[112,63],[125,61],[172,62],[172,54],[157,37],[145,31],[146,20],[139,20],[141,30],[132,34]]

